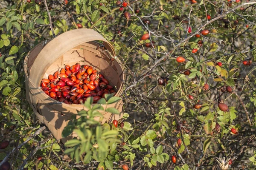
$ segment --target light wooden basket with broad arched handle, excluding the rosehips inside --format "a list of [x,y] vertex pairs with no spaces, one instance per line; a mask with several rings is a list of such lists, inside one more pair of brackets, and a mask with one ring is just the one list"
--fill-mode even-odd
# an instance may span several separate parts
[[[102,41],[103,45],[99,41]],[[24,61],[26,99],[38,119],[49,128],[57,140],[67,141],[68,138],[64,139],[61,135],[64,127],[73,114],[87,109],[84,105],[68,105],[50,98],[40,88],[41,79],[47,78],[49,74],[53,74],[64,65],[79,62],[81,65],[91,65],[100,71],[109,80],[110,85],[116,87],[116,96],[120,96],[125,72],[115,56],[113,46],[105,38],[96,31],[85,28],[67,31],[47,42],[46,45],[45,42],[41,42],[29,51]],[[122,100],[108,107],[118,109],[120,114],[102,112],[104,116],[102,123],[122,118]],[[74,136],[76,134],[73,134]]]

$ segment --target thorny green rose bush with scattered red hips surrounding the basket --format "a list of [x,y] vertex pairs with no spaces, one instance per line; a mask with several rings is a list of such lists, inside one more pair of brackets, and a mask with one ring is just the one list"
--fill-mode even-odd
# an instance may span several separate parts
[[[0,2],[0,169],[253,169],[256,2],[5,0]],[[91,28],[125,67],[122,120],[93,121],[106,96],[64,131],[40,124],[23,64],[41,41]],[[69,41],[69,40],[67,40]],[[96,114],[92,114],[96,113]],[[177,142],[178,141],[178,142]]]

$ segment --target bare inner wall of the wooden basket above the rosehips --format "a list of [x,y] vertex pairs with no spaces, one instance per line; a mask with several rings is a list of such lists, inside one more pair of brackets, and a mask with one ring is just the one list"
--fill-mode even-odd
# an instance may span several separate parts
[[[41,78],[47,78],[49,74],[53,74],[55,71],[58,71],[58,69],[64,68],[65,65],[72,66],[79,63],[81,65],[93,66],[94,69],[108,79],[110,85],[113,85],[116,88],[116,91],[119,91],[124,78],[124,73],[116,59],[111,61],[111,54],[109,54],[109,52],[107,52],[101,45],[102,44],[99,42],[91,41],[70,49],[49,65],[47,71]],[[30,58],[29,60],[28,66],[30,66],[30,71],[34,59]],[[40,85],[38,85],[38,87],[39,86]]]

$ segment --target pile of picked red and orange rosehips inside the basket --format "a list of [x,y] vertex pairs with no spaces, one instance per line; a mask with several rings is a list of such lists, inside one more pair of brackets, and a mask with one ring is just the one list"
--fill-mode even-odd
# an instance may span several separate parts
[[42,79],[41,89],[52,99],[66,104],[83,104],[88,97],[97,102],[105,94],[116,94],[102,74],[88,65],[65,65],[60,71]]

